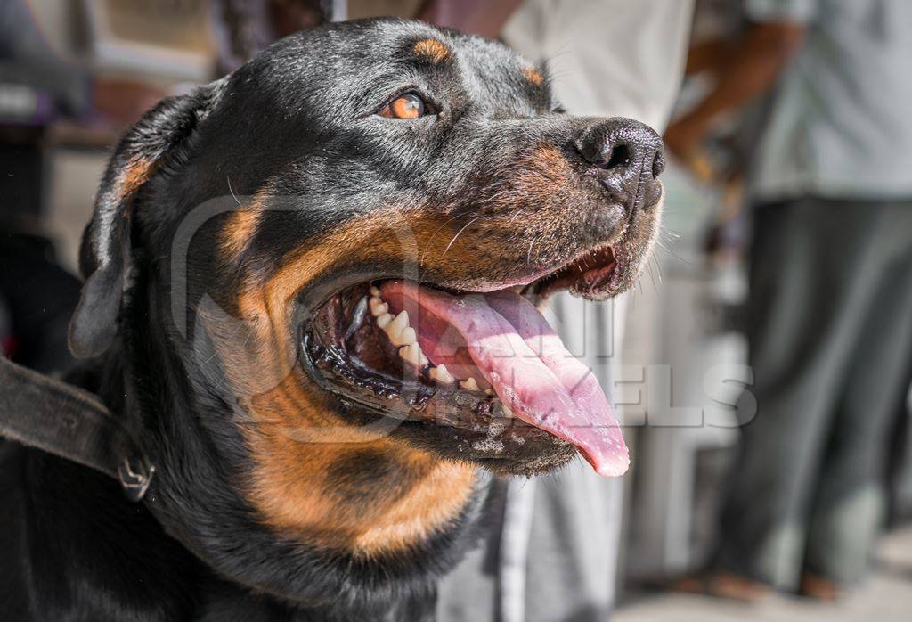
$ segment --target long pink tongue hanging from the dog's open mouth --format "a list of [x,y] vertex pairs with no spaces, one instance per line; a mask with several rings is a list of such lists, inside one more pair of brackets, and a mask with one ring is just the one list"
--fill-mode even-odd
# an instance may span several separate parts
[[[627,445],[598,381],[523,296],[511,290],[455,296],[393,281],[383,285],[383,297],[412,306],[412,317],[418,307],[420,341],[427,340],[425,324],[445,323],[455,330],[484,379],[519,419],[573,443],[602,475],[627,472]],[[446,338],[439,329],[433,332],[435,339]],[[433,348],[425,350],[440,362]]]

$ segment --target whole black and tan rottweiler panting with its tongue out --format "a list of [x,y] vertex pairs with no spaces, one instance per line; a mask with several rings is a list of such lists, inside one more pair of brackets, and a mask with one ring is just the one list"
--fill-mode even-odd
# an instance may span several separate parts
[[627,469],[537,310],[637,279],[661,141],[544,67],[417,22],[290,36],[121,140],[70,328],[156,466],[141,503],[7,444],[16,620],[433,616],[492,480]]

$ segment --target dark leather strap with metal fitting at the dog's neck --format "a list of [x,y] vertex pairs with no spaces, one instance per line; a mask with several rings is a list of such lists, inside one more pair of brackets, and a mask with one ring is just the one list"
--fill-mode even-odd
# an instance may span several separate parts
[[149,490],[155,466],[98,398],[0,356],[0,436],[103,472],[130,501]]

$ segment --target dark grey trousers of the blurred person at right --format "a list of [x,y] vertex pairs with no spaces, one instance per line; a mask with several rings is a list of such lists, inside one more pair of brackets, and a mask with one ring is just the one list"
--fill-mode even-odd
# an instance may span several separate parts
[[805,198],[755,212],[747,333],[756,415],[720,564],[792,590],[851,584],[886,511],[912,367],[912,201]]

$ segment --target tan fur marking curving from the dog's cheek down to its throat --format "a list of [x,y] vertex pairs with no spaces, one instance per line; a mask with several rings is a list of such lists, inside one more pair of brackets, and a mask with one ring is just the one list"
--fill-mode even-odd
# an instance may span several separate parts
[[[444,527],[472,494],[475,475],[472,465],[440,461],[348,426],[295,367],[288,321],[296,293],[330,266],[400,257],[403,246],[390,232],[402,218],[394,209],[348,223],[289,256],[265,283],[247,283],[239,295],[244,331],[213,331],[207,322],[218,336],[213,341],[228,380],[251,418],[242,427],[254,461],[247,490],[264,523],[282,534],[363,555],[405,548]],[[418,238],[421,229],[419,224]],[[381,242],[390,237],[392,242]],[[238,343],[241,337],[244,343]],[[326,471],[359,447],[407,461],[420,478],[398,495],[377,491],[367,506],[341,503],[328,489]]]

